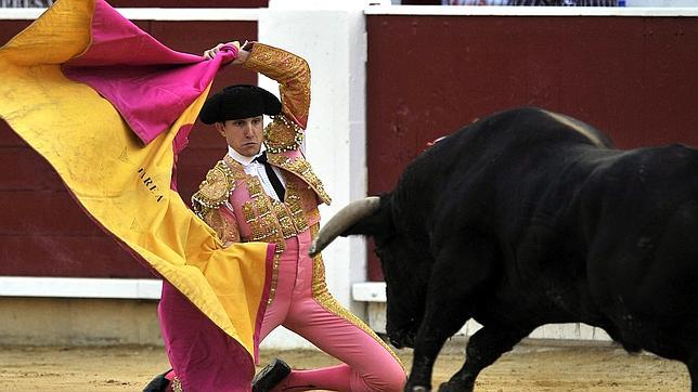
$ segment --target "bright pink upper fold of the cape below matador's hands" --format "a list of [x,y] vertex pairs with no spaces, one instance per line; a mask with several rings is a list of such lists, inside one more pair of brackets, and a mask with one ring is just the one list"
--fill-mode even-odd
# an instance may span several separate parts
[[92,42],[85,53],[64,64],[63,73],[108,100],[147,144],[168,130],[206,90],[221,65],[236,55],[232,45],[210,61],[176,52],[103,0],[95,0]]

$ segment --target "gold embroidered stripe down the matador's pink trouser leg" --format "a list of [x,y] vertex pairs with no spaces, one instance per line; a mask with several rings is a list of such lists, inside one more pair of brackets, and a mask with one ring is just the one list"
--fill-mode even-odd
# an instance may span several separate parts
[[[310,228],[312,238],[315,238],[318,236],[319,226],[319,224],[315,224]],[[357,317],[357,315],[346,310],[339,302],[337,302],[334,297],[332,297],[332,295],[327,290],[327,284],[325,282],[325,264],[322,261],[322,254],[318,254],[312,259],[312,298],[327,312],[336,314],[337,316],[346,319],[347,322],[361,328],[364,332],[369,334],[369,336],[377,341],[380,345],[383,345],[383,348],[386,349],[386,351],[388,351],[390,355],[392,355],[392,357],[404,369],[404,365],[402,365],[402,362],[400,361],[398,355],[396,355],[396,353],[390,350],[388,344],[386,344],[386,342],[383,341],[383,339],[380,339],[376,335],[376,332],[373,331],[373,329],[369,328],[369,326],[363,321],[361,321],[361,318]]]

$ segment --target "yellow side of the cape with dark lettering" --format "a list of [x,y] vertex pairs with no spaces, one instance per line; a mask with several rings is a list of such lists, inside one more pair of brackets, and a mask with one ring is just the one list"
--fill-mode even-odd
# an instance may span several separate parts
[[93,8],[93,1],[59,1],[0,48],[0,116],[99,224],[251,354],[268,245],[222,249],[170,190],[172,139],[194,122],[208,91],[143,146],[106,100],[61,73],[89,45]]

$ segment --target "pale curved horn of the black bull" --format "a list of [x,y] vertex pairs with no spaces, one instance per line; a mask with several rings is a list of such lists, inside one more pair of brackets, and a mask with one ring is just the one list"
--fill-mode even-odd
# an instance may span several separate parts
[[347,231],[354,223],[371,215],[378,210],[380,206],[380,198],[377,196],[370,196],[361,200],[351,201],[345,208],[339,210],[336,215],[332,217],[329,221],[322,227],[318,237],[312,240],[310,246],[311,257],[320,253],[327,245],[329,245],[339,234]]

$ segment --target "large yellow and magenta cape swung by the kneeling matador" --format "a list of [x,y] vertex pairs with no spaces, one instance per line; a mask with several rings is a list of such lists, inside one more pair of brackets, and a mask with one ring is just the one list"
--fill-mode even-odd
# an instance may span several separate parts
[[[0,116],[86,212],[253,356],[273,248],[222,248],[172,190],[223,56],[169,50],[102,0],[60,0],[0,48]],[[251,376],[250,376],[251,377]]]

